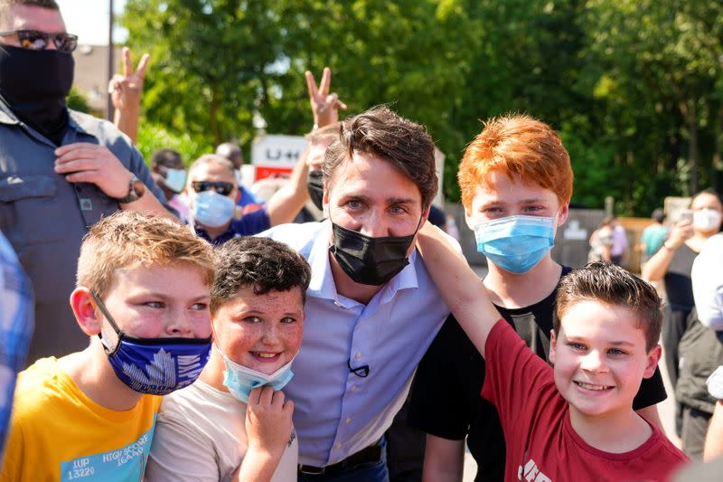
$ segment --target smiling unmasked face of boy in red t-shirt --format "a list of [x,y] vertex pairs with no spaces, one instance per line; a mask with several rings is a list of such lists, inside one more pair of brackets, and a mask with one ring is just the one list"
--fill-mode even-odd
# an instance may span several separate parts
[[560,318],[550,338],[555,384],[570,410],[599,417],[633,410],[643,378],[650,378],[660,345],[645,349],[643,330],[625,307],[582,300]]

